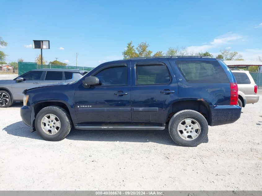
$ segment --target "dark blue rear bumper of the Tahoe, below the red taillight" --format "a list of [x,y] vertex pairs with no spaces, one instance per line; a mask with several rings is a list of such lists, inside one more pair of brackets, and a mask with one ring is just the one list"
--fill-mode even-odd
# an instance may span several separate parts
[[241,107],[237,105],[211,106],[209,125],[216,126],[236,122],[241,115]]

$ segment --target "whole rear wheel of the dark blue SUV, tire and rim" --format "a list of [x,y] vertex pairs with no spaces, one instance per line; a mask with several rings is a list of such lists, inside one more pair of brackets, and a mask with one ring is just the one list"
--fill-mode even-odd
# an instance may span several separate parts
[[180,146],[198,146],[207,137],[205,117],[194,110],[182,110],[172,116],[169,127],[171,138]]

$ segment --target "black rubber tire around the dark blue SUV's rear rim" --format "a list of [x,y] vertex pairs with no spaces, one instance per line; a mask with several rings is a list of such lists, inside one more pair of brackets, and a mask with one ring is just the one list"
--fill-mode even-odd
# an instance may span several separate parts
[[[180,122],[188,118],[196,120],[201,128],[199,135],[193,140],[183,139],[182,137],[180,137],[177,131]],[[178,144],[179,146],[193,147],[193,146],[198,146],[206,139],[208,133],[208,124],[205,117],[199,112],[194,110],[182,110],[172,116],[172,118],[169,121],[168,130],[171,138],[174,140],[176,144]]]

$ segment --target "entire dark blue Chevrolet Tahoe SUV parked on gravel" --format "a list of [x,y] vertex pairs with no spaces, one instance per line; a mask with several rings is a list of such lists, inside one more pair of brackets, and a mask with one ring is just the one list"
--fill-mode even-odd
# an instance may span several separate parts
[[240,117],[238,86],[221,59],[140,57],[103,63],[69,84],[24,90],[25,124],[49,141],[76,129],[163,130],[197,146],[208,125]]

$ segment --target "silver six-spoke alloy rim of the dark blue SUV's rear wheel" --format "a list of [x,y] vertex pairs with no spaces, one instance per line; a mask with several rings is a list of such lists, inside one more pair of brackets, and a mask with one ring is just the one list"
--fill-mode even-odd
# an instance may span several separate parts
[[191,118],[182,120],[177,126],[177,133],[184,140],[194,140],[199,136],[200,132],[200,124]]

